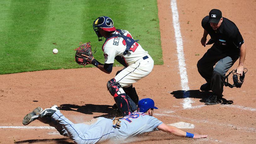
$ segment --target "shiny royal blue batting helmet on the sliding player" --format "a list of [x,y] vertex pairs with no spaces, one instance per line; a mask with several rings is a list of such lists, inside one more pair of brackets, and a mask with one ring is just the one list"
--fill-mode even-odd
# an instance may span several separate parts
[[148,109],[154,108],[158,109],[155,107],[155,102],[151,98],[143,98],[138,102],[138,112],[145,113]]

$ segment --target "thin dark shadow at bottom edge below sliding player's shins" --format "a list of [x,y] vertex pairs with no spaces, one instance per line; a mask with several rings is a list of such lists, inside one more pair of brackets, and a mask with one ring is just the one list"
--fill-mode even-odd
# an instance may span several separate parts
[[37,143],[37,142],[51,142],[51,143],[57,143],[57,144],[70,144],[74,142],[70,142],[69,138],[61,138],[61,139],[43,139],[43,140],[25,140],[25,141],[15,141],[14,143]]

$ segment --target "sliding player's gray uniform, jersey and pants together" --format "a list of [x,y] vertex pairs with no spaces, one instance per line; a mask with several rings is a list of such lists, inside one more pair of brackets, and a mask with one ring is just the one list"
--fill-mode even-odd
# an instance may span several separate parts
[[163,122],[142,112],[134,112],[120,119],[120,127],[114,128],[112,119],[99,117],[84,123],[74,124],[60,111],[52,117],[39,119],[55,127],[61,135],[72,138],[75,143],[97,143],[106,140],[121,140],[144,132],[158,130]]

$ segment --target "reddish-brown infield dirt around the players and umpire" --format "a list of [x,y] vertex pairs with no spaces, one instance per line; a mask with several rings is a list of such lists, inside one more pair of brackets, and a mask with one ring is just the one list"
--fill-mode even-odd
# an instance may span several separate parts
[[[205,139],[189,139],[157,131],[129,138],[127,143],[254,143],[256,138],[255,86],[255,26],[256,1],[177,1],[179,23],[184,47],[188,87],[192,103],[184,109],[185,98],[181,86],[179,58],[172,22],[170,1],[158,0],[161,43],[164,65],[154,66],[152,73],[135,83],[139,98],[152,98],[156,106],[155,117],[166,124],[186,122],[194,128],[183,129],[191,133],[206,134]],[[233,104],[205,106],[210,92],[200,92],[205,82],[198,74],[196,64],[210,46],[203,47],[201,20],[212,8],[222,11],[223,17],[232,20],[239,28],[247,47],[245,67],[248,73],[242,88],[224,88],[224,98]],[[143,47],[143,46],[142,46]],[[231,68],[235,69],[237,63]],[[58,135],[57,130],[34,121],[27,129],[22,119],[37,106],[60,106],[62,113],[74,123],[99,116],[116,115],[111,106],[113,97],[106,90],[106,83],[114,77],[97,68],[60,69],[0,75],[0,142],[1,143],[72,143]],[[80,74],[92,79],[86,81]],[[90,89],[86,87],[90,85]],[[121,143],[121,142],[118,142]]]

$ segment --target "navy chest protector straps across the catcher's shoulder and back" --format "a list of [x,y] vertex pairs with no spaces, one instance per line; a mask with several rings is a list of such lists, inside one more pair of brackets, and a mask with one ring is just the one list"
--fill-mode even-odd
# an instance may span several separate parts
[[[125,40],[125,43],[126,43],[126,49],[125,49],[123,55],[126,55],[127,52],[130,50],[131,46],[132,46],[135,42],[138,42],[139,40],[134,40],[134,39],[131,38],[131,37],[125,36],[124,33],[123,33],[121,30],[119,30],[119,29],[117,29],[117,31],[119,32],[118,34],[115,34],[115,33],[114,33],[114,34],[111,34],[108,39],[110,39],[110,38],[112,38],[112,37],[116,37],[116,36],[122,37],[122,38]],[[106,39],[105,42],[107,42],[108,39]]]

